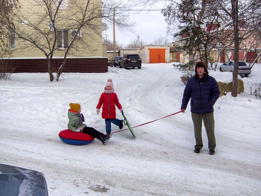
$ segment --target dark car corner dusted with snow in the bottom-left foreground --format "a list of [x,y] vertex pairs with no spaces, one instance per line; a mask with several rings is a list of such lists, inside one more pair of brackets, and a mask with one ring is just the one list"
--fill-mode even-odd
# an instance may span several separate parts
[[48,196],[44,174],[0,164],[0,195]]

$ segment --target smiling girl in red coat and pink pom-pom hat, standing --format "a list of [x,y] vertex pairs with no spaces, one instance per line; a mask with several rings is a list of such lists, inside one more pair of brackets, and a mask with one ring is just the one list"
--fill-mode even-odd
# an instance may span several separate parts
[[119,126],[119,129],[123,128],[123,120],[116,119],[115,105],[120,112],[122,112],[123,109],[114,91],[115,89],[113,88],[112,80],[108,79],[104,87],[104,92],[99,98],[99,103],[96,106],[96,112],[99,114],[100,108],[103,105],[102,118],[105,119],[105,129],[107,134],[111,133],[111,123]]

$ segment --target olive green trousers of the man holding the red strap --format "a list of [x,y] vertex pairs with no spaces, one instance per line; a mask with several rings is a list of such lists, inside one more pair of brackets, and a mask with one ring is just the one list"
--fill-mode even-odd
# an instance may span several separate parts
[[196,114],[191,113],[192,121],[194,124],[194,134],[196,139],[195,148],[201,149],[203,147],[202,142],[202,119],[208,136],[208,149],[215,150],[216,138],[215,138],[215,121],[214,113]]

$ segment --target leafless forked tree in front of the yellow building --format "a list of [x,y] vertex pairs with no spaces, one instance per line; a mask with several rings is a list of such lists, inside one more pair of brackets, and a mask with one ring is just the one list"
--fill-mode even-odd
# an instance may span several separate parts
[[[38,49],[48,61],[50,81],[53,81],[52,61],[54,56],[63,57],[63,63],[57,71],[56,81],[62,73],[66,57],[80,56],[84,50],[92,52],[93,42],[101,37],[102,18],[112,21],[112,8],[123,8],[125,4],[114,0],[20,0],[20,8],[5,13],[5,28],[15,34],[17,50]],[[25,6],[27,4],[27,6]],[[28,9],[30,6],[30,10]],[[128,12],[117,13],[116,24],[123,29]],[[121,16],[121,17],[120,17]],[[14,28],[12,25],[19,25]],[[100,40],[102,41],[102,40]],[[100,42],[101,43],[101,42]]]

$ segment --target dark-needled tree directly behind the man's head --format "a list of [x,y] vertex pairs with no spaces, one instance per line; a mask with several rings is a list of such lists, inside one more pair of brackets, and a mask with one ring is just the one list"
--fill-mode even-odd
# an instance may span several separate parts
[[212,9],[215,7],[213,0],[169,2],[171,3],[162,13],[169,25],[168,32],[173,33],[174,38],[182,40],[181,49],[189,55],[189,65],[192,66],[190,69],[199,60],[208,65],[208,62],[212,62],[210,53],[219,43],[222,33],[216,10]]

